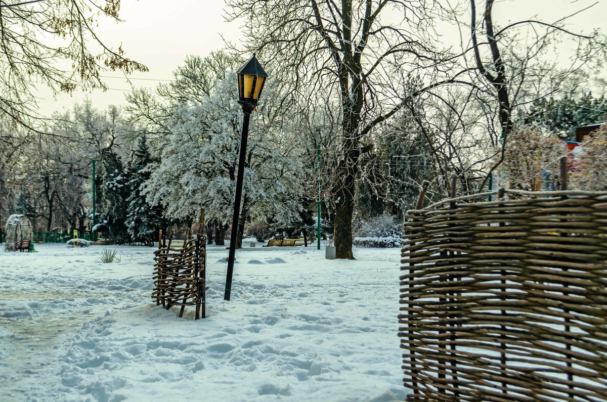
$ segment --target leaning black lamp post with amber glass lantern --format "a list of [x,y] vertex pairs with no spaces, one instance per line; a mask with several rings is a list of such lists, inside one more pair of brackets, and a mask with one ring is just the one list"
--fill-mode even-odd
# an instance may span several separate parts
[[268,75],[263,70],[259,61],[253,53],[251,60],[237,71],[238,92],[240,106],[245,114],[242,121],[242,138],[240,139],[240,151],[238,162],[238,174],[236,176],[236,197],[234,199],[234,217],[232,217],[232,237],[229,239],[228,272],[226,274],[226,288],[223,299],[229,300],[232,292],[232,273],[234,273],[234,256],[236,255],[236,237],[238,236],[238,221],[240,216],[240,198],[242,197],[242,181],[245,176],[246,160],[246,138],[249,135],[249,118],[251,112],[257,106],[259,95],[262,94],[263,84]]

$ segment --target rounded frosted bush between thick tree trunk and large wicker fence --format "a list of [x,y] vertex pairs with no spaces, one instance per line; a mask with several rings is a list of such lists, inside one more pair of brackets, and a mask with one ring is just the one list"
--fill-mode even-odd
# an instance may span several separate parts
[[354,245],[356,247],[400,247],[402,223],[395,216],[382,214],[356,223]]

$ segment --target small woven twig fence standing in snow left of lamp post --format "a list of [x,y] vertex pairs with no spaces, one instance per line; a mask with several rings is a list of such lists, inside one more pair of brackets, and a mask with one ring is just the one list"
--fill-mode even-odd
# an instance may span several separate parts
[[206,318],[206,234],[174,240],[158,232],[158,250],[154,251],[154,290],[152,299],[169,310],[181,306],[183,317],[186,305],[195,306],[194,319]]

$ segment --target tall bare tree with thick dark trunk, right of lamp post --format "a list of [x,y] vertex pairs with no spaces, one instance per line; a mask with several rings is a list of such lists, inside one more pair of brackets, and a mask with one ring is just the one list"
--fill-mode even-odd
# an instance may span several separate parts
[[[337,258],[353,259],[352,217],[361,154],[372,147],[364,137],[404,106],[395,93],[395,71],[419,71],[437,77],[446,56],[433,48],[432,15],[438,2],[394,0],[230,0],[230,18],[255,21],[245,47],[268,62],[273,80],[299,90],[328,88],[340,109],[340,149],[333,194]],[[390,21],[393,16],[398,21]],[[447,62],[448,63],[448,62]],[[446,82],[426,80],[421,92]],[[426,82],[424,81],[424,82]]]

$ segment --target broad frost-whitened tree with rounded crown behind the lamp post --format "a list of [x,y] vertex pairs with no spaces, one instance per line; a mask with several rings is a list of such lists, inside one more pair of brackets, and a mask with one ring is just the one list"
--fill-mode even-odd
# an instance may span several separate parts
[[[227,228],[236,188],[242,111],[236,102],[236,75],[216,83],[201,101],[175,103],[164,126],[160,162],[151,166],[144,194],[152,204],[178,219],[197,217]],[[266,94],[273,89],[266,88]],[[299,210],[303,179],[297,148],[285,144],[285,131],[270,117],[271,105],[260,104],[252,116],[246,154],[239,240],[248,217],[288,223]],[[218,239],[219,240],[219,239]],[[240,243],[240,241],[239,241]]]

